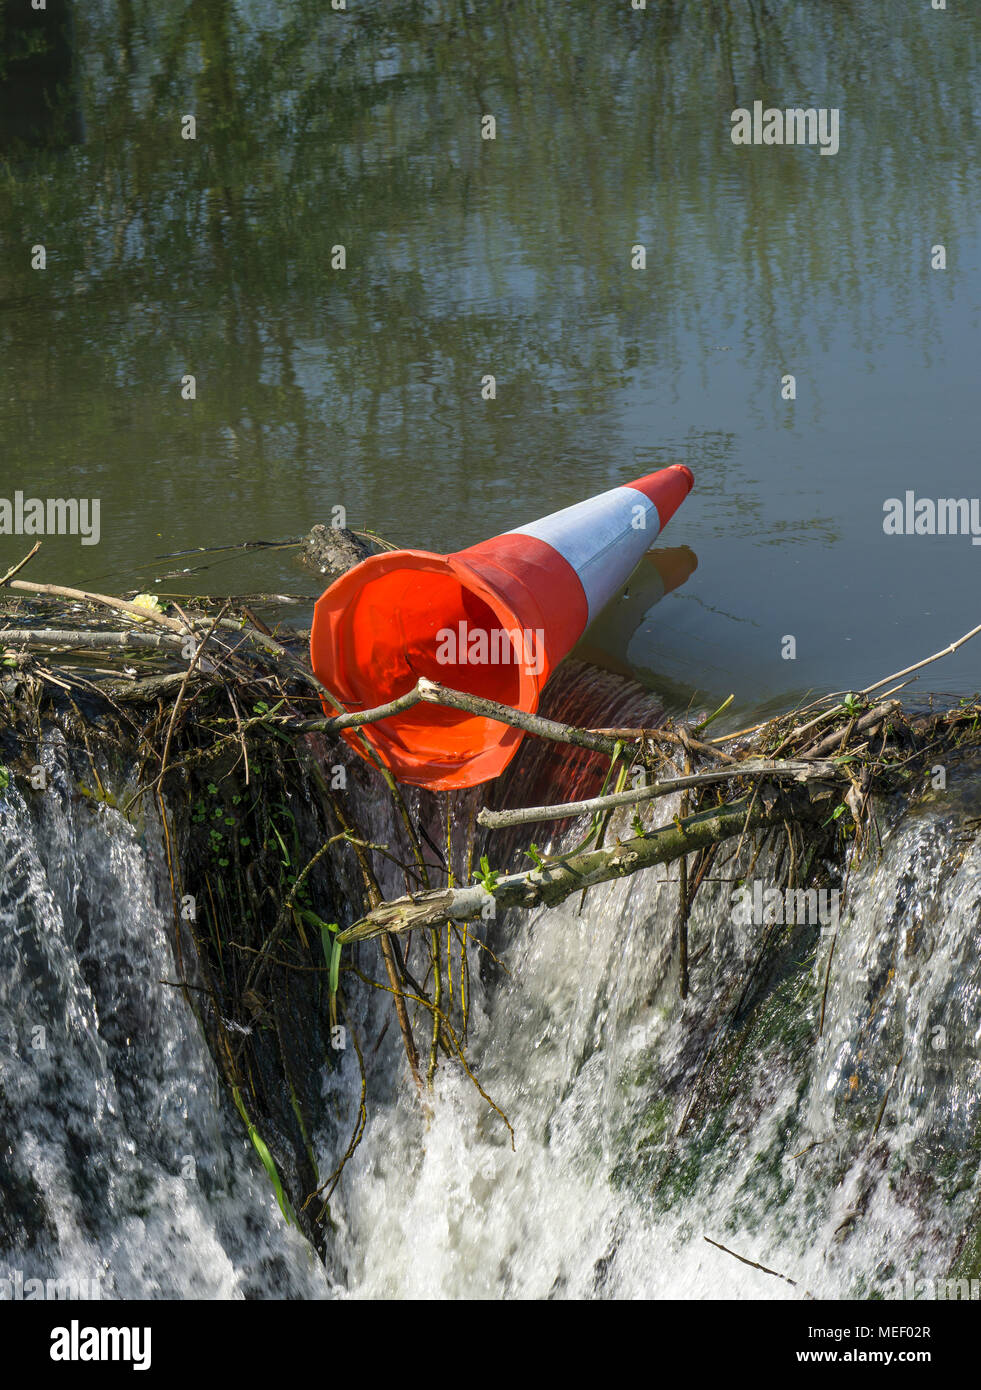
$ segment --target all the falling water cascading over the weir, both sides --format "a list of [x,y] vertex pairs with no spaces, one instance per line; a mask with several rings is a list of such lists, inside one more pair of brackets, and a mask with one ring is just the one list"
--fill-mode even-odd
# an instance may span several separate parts
[[[571,666],[547,713],[617,726],[656,710]],[[774,835],[752,869],[749,845],[720,852],[695,901],[685,1002],[673,866],[592,888],[582,912],[577,895],[482,927],[497,960],[471,947],[470,1059],[514,1151],[452,1062],[422,1113],[389,997],[352,986],[368,1123],[331,1202],[324,1272],[160,983],[175,966],[158,826],[138,833],[72,794],[64,751],[49,753],[53,791],[0,792],[0,1277],[97,1275],[103,1297],[535,1298],[895,1297],[910,1275],[977,1277],[977,762],[950,766],[942,799],[882,805],[881,859],[852,872],[836,933],[739,924],[731,880],[775,881],[785,849]],[[449,806],[460,872],[490,791],[531,805],[593,790],[592,758],[529,739],[499,787],[411,806],[435,844]],[[363,819],[395,841],[388,798]],[[557,844],[581,834],[560,824]],[[510,867],[522,842],[486,833],[474,853]],[[400,891],[397,870],[381,885]],[[311,1136],[322,1175],[358,1094],[349,1051]]]

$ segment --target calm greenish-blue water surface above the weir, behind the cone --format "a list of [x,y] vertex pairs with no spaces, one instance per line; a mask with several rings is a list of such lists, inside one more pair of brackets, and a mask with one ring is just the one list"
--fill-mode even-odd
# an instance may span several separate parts
[[[15,11],[0,496],[101,500],[100,543],[46,541],[39,580],[151,588],[196,563],[153,556],[338,505],[456,549],[684,461],[664,542],[698,569],[654,607],[642,567],[589,637],[610,666],[745,714],[981,620],[981,546],[882,531],[906,489],[981,493],[977,7],[103,0],[68,22],[50,0],[33,71]],[[838,108],[839,153],[734,146],[755,100]],[[0,571],[28,545],[0,537]],[[315,582],[282,550],[157,588]],[[981,641],[921,685],[980,688]]]

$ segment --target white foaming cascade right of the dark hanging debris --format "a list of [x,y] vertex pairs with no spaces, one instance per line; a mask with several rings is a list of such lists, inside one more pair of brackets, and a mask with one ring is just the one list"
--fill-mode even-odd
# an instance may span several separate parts
[[[510,977],[481,999],[472,1061],[517,1151],[459,1069],[443,1066],[429,1123],[403,1087],[335,1202],[349,1291],[841,1298],[891,1297],[910,1270],[943,1277],[978,1198],[967,1143],[981,1109],[981,851],[950,824],[909,817],[881,863],[855,870],[823,1036],[830,934],[791,981],[803,1045],[789,1019],[773,1040],[752,1019],[727,1034],[738,1091],[661,1148],[659,1193],[638,1147],[678,1130],[709,1041],[692,1040],[761,929],[734,927],[731,887],[706,885],[682,1005],[663,870],[591,890],[582,915],[578,897],[511,915]],[[930,1186],[941,1151],[945,1197]]]

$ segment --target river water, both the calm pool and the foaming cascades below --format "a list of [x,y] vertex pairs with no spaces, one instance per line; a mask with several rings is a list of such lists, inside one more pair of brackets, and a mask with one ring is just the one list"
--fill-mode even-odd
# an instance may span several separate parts
[[[955,639],[981,549],[882,518],[907,489],[978,491],[980,39],[977,10],[885,0],[79,7],[44,99],[0,113],[0,496],[100,499],[99,545],[46,538],[32,574],[313,598],[289,550],[157,557],[338,506],[453,549],[684,461],[696,491],[666,543],[688,577],[661,598],[642,566],[592,660],[670,706],[732,691],[745,719]],[[729,113],[756,99],[839,108],[839,152],[735,147]],[[0,535],[0,570],[29,543]],[[980,688],[981,648],[924,684]],[[325,1272],[161,983],[154,827],[81,805],[64,773],[43,810],[11,785],[0,1277],[768,1298],[942,1277],[977,1222],[980,787],[966,769],[884,826],[820,1036],[827,937],[786,966],[714,1118],[703,1012],[757,947],[725,884],[699,897],[685,1005],[653,873],[581,916],[497,923],[509,973],[481,984],[475,962],[474,1055],[516,1151],[449,1068],[428,1122],[382,1086]]]

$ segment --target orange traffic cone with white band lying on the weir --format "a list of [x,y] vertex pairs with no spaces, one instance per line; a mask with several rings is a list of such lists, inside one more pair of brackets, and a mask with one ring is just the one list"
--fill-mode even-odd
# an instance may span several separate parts
[[[554,667],[692,481],[674,464],[456,555],[371,556],[317,603],[317,677],[345,709],[384,705],[424,676],[532,713]],[[364,734],[399,781],[432,790],[496,777],[522,738],[495,720],[428,703],[365,724]]]

